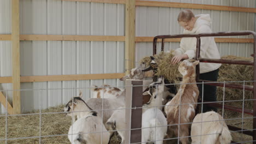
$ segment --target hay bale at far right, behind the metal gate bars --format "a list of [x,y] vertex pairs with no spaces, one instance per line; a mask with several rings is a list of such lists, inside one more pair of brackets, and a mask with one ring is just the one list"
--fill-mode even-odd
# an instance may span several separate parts
[[[236,56],[223,56],[222,59],[236,59],[253,61],[250,57],[236,57]],[[238,65],[238,64],[222,64],[219,68],[219,82],[228,81],[253,81],[253,66],[252,65]],[[234,82],[243,85],[243,82]],[[253,82],[246,82],[245,85],[253,85]],[[217,99],[223,100],[223,87],[217,88]],[[234,88],[225,88],[225,100],[242,100],[243,90]],[[252,91],[245,91],[245,99],[253,99]],[[225,103],[241,107],[242,101]],[[253,101],[245,101],[246,109],[253,108]]]

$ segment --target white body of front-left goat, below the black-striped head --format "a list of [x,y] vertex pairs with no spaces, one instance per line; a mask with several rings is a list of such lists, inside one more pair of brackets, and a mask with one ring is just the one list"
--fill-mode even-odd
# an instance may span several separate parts
[[107,144],[109,142],[109,132],[102,124],[101,119],[95,111],[90,111],[84,117],[79,118],[69,128],[69,141],[74,144],[101,144],[101,142]]

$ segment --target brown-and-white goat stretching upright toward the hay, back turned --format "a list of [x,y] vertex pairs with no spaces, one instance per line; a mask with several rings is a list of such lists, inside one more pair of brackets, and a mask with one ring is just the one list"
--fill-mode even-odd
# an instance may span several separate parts
[[184,123],[191,123],[193,121],[199,95],[195,80],[195,65],[197,64],[199,64],[199,61],[189,62],[184,60],[179,65],[178,70],[183,75],[181,86],[178,93],[165,106],[167,122],[170,125],[168,129],[175,136],[179,135],[179,137],[182,137],[180,138],[182,144],[188,143],[189,124]]

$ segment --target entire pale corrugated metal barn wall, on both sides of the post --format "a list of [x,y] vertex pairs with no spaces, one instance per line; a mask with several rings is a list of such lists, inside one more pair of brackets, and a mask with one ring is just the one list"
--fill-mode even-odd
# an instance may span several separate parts
[[[200,4],[255,7],[254,0],[177,0]],[[179,34],[176,17],[179,8],[137,7],[136,36],[153,37],[159,34]],[[10,1],[0,0],[0,34],[11,33]],[[255,14],[216,10],[193,10],[195,14],[210,13],[212,29],[218,31],[254,31]],[[125,5],[60,0],[20,1],[20,34],[74,34],[74,35],[125,35]],[[243,37],[240,37],[243,38]],[[166,44],[166,50],[176,49],[178,43]],[[222,55],[249,56],[252,44],[218,44]],[[124,73],[124,42],[101,41],[21,41],[21,76]],[[152,43],[136,44],[136,62],[152,55]],[[0,41],[0,76],[11,76],[11,43]],[[21,83],[22,89],[47,89],[22,91],[22,112],[65,104],[77,95],[74,88],[92,84],[123,86],[119,80],[87,80],[62,82]],[[1,89],[11,89],[11,83],[1,84]],[[55,89],[56,88],[56,89]],[[71,89],[63,89],[71,88]],[[73,88],[73,89],[72,89]],[[84,98],[89,89],[82,89]],[[11,101],[11,92],[4,93]],[[0,113],[4,113],[3,106]]]

